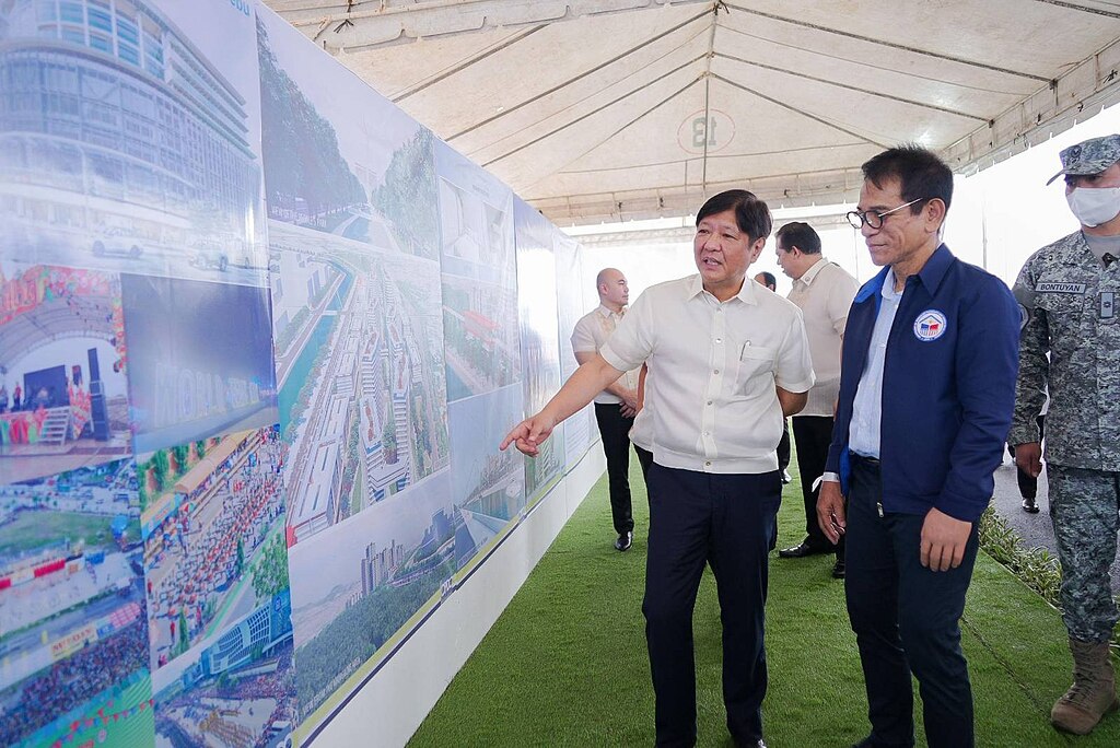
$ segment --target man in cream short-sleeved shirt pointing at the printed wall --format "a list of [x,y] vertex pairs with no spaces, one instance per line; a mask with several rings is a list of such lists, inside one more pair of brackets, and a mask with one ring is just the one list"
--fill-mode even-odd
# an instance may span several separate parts
[[560,421],[648,361],[654,462],[642,611],[659,746],[696,745],[692,609],[709,563],[728,730],[740,747],[765,745],[766,564],[782,497],[774,447],[783,413],[800,410],[813,384],[801,312],[746,278],[769,232],[769,209],[746,190],[704,203],[693,241],[700,273],[646,290],[599,353],[502,443],[536,455]]

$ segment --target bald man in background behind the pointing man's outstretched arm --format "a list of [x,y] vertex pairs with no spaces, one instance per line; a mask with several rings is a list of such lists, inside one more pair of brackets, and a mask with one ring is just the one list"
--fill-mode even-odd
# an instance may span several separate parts
[[[629,287],[622,271],[604,268],[595,279],[599,306],[584,315],[571,333],[576,361],[585,364],[599,352],[626,311]],[[595,395],[595,420],[607,458],[607,488],[614,521],[615,550],[628,551],[634,541],[629,490],[629,430],[637,412],[637,373],[626,372]]]

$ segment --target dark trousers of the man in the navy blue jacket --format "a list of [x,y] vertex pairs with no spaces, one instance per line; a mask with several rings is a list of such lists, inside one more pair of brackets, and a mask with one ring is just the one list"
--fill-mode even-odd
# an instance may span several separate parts
[[871,745],[914,745],[913,673],[930,748],[970,748],[972,686],[960,618],[977,558],[976,526],[960,567],[930,571],[921,563],[925,516],[880,517],[881,501],[878,461],[852,456],[844,591],[867,683]]

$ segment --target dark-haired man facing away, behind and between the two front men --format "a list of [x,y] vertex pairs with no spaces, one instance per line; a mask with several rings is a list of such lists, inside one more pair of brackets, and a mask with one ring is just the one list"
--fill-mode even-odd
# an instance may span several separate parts
[[787,297],[805,318],[809,350],[816,384],[809,391],[805,409],[793,417],[793,440],[797,445],[801,495],[805,502],[805,540],[777,552],[783,559],[801,559],[834,550],[832,577],[843,579],[843,537],[829,543],[816,523],[816,485],[832,443],[832,414],[840,392],[840,347],[848,308],[859,283],[848,271],[821,256],[821,237],[801,221],[787,223],[774,234],[777,264],[793,279]]

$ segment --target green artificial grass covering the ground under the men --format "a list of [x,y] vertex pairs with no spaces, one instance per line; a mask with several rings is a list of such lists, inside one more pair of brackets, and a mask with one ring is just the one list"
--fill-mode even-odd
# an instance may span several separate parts
[[[632,460],[634,546],[614,550],[600,479],[448,685],[410,746],[651,746],[653,688],[642,595],[648,506]],[[796,466],[791,466],[795,471]],[[785,487],[778,548],[804,536],[800,483]],[[771,557],[763,707],[772,748],[847,748],[870,730],[843,582],[831,557]],[[1120,713],[1089,737],[1049,724],[1072,662],[1056,610],[981,553],[962,621],[977,745],[1120,746]],[[699,746],[732,745],[720,691],[719,604],[710,570],[697,599]],[[916,696],[917,740],[925,745]]]

